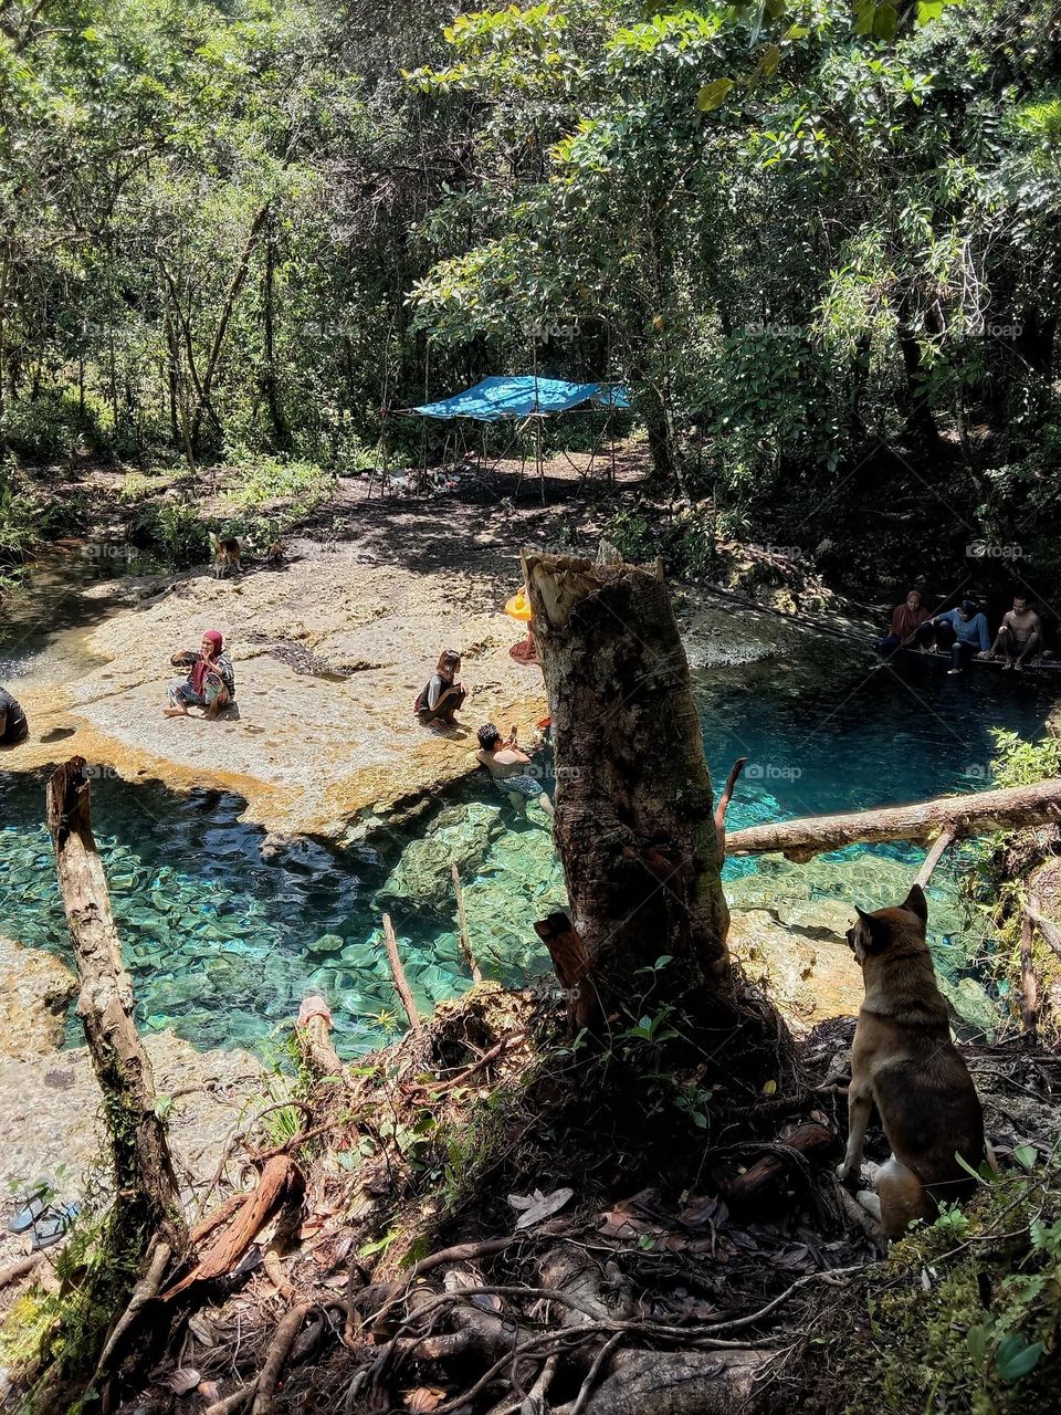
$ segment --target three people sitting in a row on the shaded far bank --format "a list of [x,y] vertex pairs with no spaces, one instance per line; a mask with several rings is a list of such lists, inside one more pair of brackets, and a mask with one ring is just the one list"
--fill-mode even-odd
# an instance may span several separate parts
[[1013,607],[1003,616],[992,641],[987,617],[975,600],[962,600],[956,608],[929,614],[921,591],[911,590],[891,611],[887,635],[877,651],[891,655],[901,648],[949,654],[949,674],[961,674],[972,658],[1004,658],[1003,668],[1021,672],[1043,652],[1043,621],[1024,594],[1013,596]]

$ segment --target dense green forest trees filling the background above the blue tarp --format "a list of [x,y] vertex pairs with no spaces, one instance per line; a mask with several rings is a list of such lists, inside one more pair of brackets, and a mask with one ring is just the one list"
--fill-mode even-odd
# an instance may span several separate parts
[[881,467],[1041,509],[1058,38],[1014,0],[0,0],[4,441],[342,467],[533,365],[628,381],[744,521]]

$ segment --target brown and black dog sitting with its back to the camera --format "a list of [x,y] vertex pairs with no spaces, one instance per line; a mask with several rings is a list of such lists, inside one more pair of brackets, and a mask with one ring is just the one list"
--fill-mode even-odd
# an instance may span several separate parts
[[891,1159],[877,1172],[877,1193],[859,1194],[888,1238],[912,1218],[931,1221],[941,1200],[968,1199],[985,1157],[976,1087],[951,1041],[946,1002],[925,942],[928,903],[915,884],[898,908],[859,910],[847,942],[862,964],[866,999],[859,1012],[847,1092],[850,1136],[837,1169],[857,1180],[862,1145],[876,1104]]

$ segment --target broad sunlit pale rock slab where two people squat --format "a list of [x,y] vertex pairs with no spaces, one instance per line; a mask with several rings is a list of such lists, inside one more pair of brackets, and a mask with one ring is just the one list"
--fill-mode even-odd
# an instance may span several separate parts
[[[272,831],[341,839],[359,818],[423,802],[475,770],[481,723],[516,722],[529,739],[546,709],[540,669],[509,657],[522,630],[502,606],[518,574],[506,556],[495,572],[440,573],[307,543],[284,570],[127,580],[126,607],[100,611],[86,637],[95,666],[64,688],[44,675],[11,685],[31,740],[0,764],[24,770],[81,754],[127,780],[232,791],[246,799],[248,819]],[[115,584],[79,593],[102,603]],[[238,705],[216,722],[167,719],[166,685],[181,676],[170,657],[197,647],[207,628],[225,635]],[[456,732],[413,716],[444,648],[463,652],[470,689]],[[298,671],[307,666],[315,672]],[[76,730],[41,740],[61,726]]]

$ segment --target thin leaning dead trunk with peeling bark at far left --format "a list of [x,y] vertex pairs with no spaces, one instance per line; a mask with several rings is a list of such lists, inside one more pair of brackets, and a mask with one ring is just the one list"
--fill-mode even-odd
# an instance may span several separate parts
[[48,781],[48,829],[81,979],[78,1016],[103,1091],[110,1133],[116,1241],[139,1235],[146,1242],[160,1234],[181,1252],[187,1234],[178,1187],[166,1129],[156,1114],[151,1061],[133,1026],[133,985],[122,962],[103,863],[92,835],[83,757],[57,767]]

